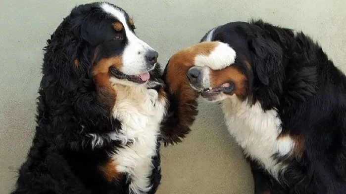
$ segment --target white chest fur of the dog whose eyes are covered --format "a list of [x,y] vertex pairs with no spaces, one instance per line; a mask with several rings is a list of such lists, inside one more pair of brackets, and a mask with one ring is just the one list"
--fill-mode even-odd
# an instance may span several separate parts
[[249,106],[235,96],[222,102],[226,125],[247,156],[259,161],[274,177],[285,166],[272,157],[278,153],[287,155],[293,148],[291,139],[278,140],[281,120],[276,110],[264,112],[259,102]]

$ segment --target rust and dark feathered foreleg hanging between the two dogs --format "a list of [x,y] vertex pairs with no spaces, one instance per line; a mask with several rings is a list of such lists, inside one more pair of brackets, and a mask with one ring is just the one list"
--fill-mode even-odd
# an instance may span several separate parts
[[170,60],[164,70],[163,79],[170,103],[161,130],[165,146],[181,142],[191,131],[190,127],[198,115],[198,92],[191,88],[186,76],[192,66]]

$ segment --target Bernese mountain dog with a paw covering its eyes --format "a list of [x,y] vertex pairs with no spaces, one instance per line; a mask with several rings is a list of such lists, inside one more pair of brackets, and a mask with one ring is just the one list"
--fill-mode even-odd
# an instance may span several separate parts
[[171,57],[168,71],[186,69],[221,104],[255,194],[346,194],[346,77],[311,38],[232,22]]

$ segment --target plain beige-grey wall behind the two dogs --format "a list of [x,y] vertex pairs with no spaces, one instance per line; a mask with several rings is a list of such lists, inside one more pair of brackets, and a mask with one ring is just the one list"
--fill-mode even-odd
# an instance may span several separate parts
[[[35,127],[42,48],[71,8],[90,0],[0,1],[0,193],[9,193]],[[133,16],[138,35],[166,64],[179,48],[211,28],[262,18],[303,30],[346,70],[345,0],[110,0]],[[220,109],[201,103],[193,132],[162,150],[158,194],[251,194],[253,182],[241,150],[228,135]]]

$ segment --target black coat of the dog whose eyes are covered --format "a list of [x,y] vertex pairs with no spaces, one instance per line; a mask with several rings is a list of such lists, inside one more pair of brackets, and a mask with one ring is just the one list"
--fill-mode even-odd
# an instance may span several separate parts
[[279,181],[249,159],[255,194],[346,194],[346,77],[322,48],[263,21],[219,26],[212,40],[236,50],[235,64],[247,59],[248,97],[278,110],[282,134],[302,140],[301,155],[273,155],[288,165]]

